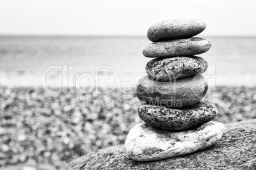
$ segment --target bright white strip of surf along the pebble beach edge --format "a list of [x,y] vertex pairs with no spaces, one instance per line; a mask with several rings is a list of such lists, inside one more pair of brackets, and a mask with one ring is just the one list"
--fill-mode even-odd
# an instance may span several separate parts
[[[111,72],[101,72],[97,75],[91,72],[84,74],[87,75],[79,74],[80,77],[76,77],[75,74],[63,76],[62,72],[54,72],[43,77],[44,75],[42,76],[41,72],[0,72],[0,86],[6,86],[8,88],[41,88],[42,86],[47,86],[48,88],[60,88],[63,86],[66,86],[67,88],[87,88],[90,86],[94,86],[94,88],[113,88],[115,86],[125,86],[131,88],[136,85],[141,77],[146,75],[145,72],[116,75]],[[210,86],[256,86],[256,79],[253,79],[256,75],[253,74],[203,74],[203,76]],[[80,84],[78,85],[79,82]]]

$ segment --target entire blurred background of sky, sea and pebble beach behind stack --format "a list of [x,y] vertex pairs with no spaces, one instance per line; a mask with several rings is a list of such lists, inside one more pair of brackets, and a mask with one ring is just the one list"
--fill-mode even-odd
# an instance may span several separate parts
[[[196,37],[211,42],[199,56],[208,61],[206,98],[218,107],[217,121],[256,118],[255,5],[2,0],[0,169],[60,169],[88,152],[123,144],[140,121],[134,85],[150,60],[142,55],[150,44],[146,32],[171,18],[207,23]],[[130,82],[125,90],[120,81]]]

